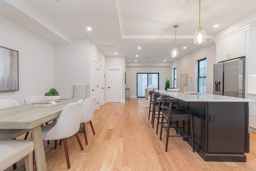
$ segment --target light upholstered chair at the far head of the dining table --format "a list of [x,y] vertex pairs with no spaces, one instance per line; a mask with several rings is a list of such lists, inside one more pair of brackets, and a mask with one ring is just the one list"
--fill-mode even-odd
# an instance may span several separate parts
[[90,95],[90,84],[72,84],[71,98],[86,99]]

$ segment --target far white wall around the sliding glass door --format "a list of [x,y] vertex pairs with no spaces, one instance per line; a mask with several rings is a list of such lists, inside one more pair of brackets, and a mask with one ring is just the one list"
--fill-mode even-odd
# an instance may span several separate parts
[[159,73],[159,89],[164,89],[166,78],[171,79],[170,66],[126,66],[126,85],[130,87],[130,97],[137,97],[137,73]]

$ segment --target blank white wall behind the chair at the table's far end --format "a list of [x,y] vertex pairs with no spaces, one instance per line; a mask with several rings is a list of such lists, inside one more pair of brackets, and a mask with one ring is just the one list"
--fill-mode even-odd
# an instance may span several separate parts
[[73,39],[58,45],[54,53],[55,88],[63,98],[70,98],[72,83],[90,83],[89,40]]

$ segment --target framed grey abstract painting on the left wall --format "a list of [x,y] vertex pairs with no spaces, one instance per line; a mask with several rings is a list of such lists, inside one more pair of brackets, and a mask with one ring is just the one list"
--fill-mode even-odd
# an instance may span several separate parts
[[18,90],[18,51],[0,46],[0,92]]

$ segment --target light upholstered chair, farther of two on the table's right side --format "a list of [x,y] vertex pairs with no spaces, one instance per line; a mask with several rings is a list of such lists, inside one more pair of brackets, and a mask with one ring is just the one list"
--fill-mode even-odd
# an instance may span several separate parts
[[95,132],[94,132],[94,129],[92,126],[92,118],[94,115],[95,103],[96,103],[96,96],[94,95],[92,97],[85,99],[84,104],[83,104],[81,123],[82,123],[83,129],[84,129],[84,138],[85,138],[86,145],[88,144],[87,136],[86,136],[86,127],[85,127],[86,122],[90,122],[90,125],[92,127],[92,132],[95,135]]

